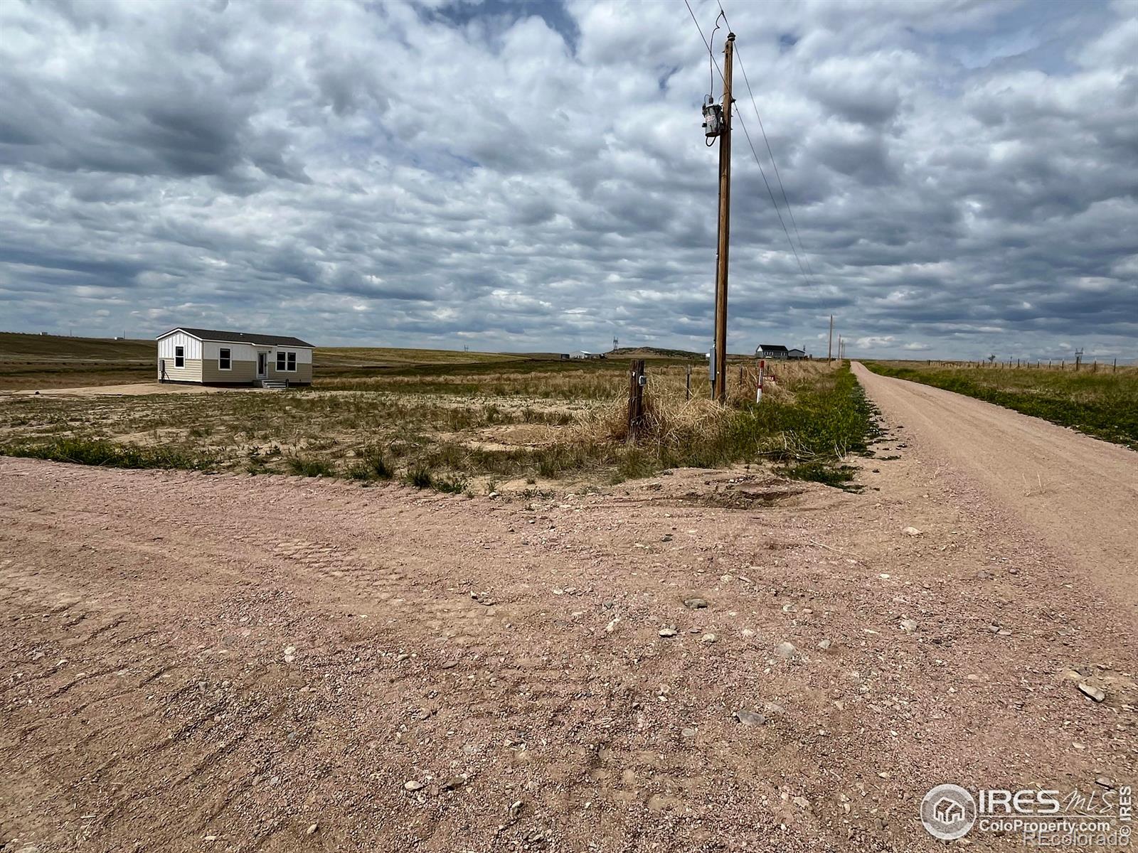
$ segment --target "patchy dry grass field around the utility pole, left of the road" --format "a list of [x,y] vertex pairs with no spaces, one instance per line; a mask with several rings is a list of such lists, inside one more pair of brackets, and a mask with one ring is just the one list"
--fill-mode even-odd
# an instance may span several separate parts
[[[525,491],[767,463],[848,483],[872,413],[844,365],[775,367],[753,401],[753,359],[709,399],[706,363],[648,361],[646,414],[627,437],[629,358],[318,350],[312,387],[147,396],[6,394],[0,453],[121,467],[399,479],[445,491]],[[122,380],[118,380],[122,381]]]

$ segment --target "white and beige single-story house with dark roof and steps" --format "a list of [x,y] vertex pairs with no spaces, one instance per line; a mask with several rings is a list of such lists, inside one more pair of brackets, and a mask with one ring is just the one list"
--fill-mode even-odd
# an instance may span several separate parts
[[179,326],[158,336],[158,381],[204,386],[306,386],[313,346],[283,334]]

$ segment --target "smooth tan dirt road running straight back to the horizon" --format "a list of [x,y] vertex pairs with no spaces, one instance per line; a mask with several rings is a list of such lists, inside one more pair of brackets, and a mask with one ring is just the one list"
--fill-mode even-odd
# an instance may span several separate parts
[[1067,557],[1073,581],[1138,607],[1138,453],[860,364],[853,372],[915,450],[976,481]]

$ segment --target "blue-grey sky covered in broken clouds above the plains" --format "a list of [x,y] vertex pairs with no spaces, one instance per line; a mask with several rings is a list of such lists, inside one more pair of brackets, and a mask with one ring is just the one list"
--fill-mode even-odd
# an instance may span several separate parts
[[[723,3],[732,351],[1138,357],[1138,3]],[[683,0],[9,0],[0,329],[704,350],[711,85]]]

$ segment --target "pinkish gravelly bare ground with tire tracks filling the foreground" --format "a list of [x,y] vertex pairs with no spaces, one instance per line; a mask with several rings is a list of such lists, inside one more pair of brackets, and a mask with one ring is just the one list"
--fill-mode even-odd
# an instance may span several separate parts
[[[0,459],[0,846],[940,850],[935,784],[1133,780],[1132,601],[867,384],[900,458],[858,495]],[[1133,523],[1069,506],[1080,549]]]

